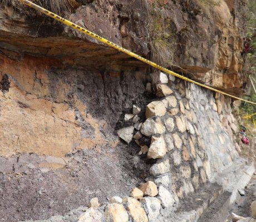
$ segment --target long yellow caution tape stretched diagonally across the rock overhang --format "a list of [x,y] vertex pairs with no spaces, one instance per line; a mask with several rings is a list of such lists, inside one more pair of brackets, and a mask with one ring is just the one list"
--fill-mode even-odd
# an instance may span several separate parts
[[92,38],[95,38],[95,39],[99,40],[100,42],[103,42],[103,43],[107,44],[108,46],[110,46],[110,47],[112,47],[112,48],[115,48],[115,49],[117,49],[117,50],[119,50],[119,51],[121,51],[121,52],[123,52],[123,53],[126,53],[126,54],[128,54],[129,56],[131,56],[131,57],[134,57],[134,58],[136,58],[136,59],[139,59],[139,60],[141,60],[142,62],[151,65],[152,67],[155,67],[155,68],[157,68],[157,69],[160,69],[160,70],[162,70],[162,71],[165,72],[165,73],[168,73],[168,74],[170,74],[170,75],[174,75],[175,77],[184,79],[184,80],[186,80],[186,81],[188,81],[188,82],[190,82],[190,83],[194,83],[194,84],[196,84],[196,85],[200,85],[201,87],[204,87],[204,88],[206,88],[206,89],[213,90],[214,92],[221,93],[221,94],[223,94],[223,95],[227,95],[228,97],[232,97],[232,98],[234,98],[234,99],[239,99],[239,100],[242,100],[242,101],[247,102],[247,103],[256,104],[256,103],[254,103],[254,102],[251,102],[251,101],[248,101],[248,100],[239,98],[239,97],[235,97],[234,95],[230,95],[230,94],[228,94],[228,93],[224,93],[224,92],[222,92],[222,91],[220,91],[220,90],[218,90],[218,89],[214,89],[214,88],[212,88],[212,87],[209,87],[208,85],[204,85],[204,84],[198,83],[198,82],[196,82],[196,81],[194,81],[194,80],[192,80],[192,79],[189,79],[189,78],[184,77],[183,75],[177,74],[177,73],[175,73],[175,72],[172,72],[172,71],[169,70],[169,69],[166,69],[166,68],[164,68],[164,67],[161,67],[161,65],[157,65],[156,63],[151,62],[150,60],[147,60],[147,59],[145,59],[145,58],[143,58],[143,57],[141,57],[141,56],[139,56],[139,55],[137,55],[137,54],[135,54],[135,53],[133,53],[133,52],[130,52],[130,51],[128,51],[127,49],[122,48],[121,46],[117,46],[117,44],[112,43],[112,42],[108,41],[107,39],[102,38],[102,37],[100,37],[99,35],[88,31],[88,30],[85,29],[85,28],[82,28],[82,27],[80,27],[80,26],[77,26],[76,24],[74,24],[74,23],[68,21],[67,19],[62,18],[62,17],[58,16],[57,14],[52,13],[52,12],[46,10],[45,8],[42,8],[42,7],[38,6],[37,4],[35,4],[35,3],[31,2],[31,1],[28,1],[28,0],[19,0],[19,1],[22,2],[22,3],[24,3],[24,4],[27,4],[27,6],[29,6],[29,7],[35,8],[37,11],[40,11],[40,12],[42,12],[43,14],[46,14],[47,16],[50,16],[50,17],[56,19],[57,21],[60,21],[60,22],[62,22],[62,23],[64,23],[64,24],[66,24],[67,26],[70,26],[70,27],[73,28],[73,29],[76,29],[76,30],[78,30],[78,31],[80,31],[80,32],[83,32],[83,33],[87,34],[87,36],[90,36],[90,37],[92,37]]

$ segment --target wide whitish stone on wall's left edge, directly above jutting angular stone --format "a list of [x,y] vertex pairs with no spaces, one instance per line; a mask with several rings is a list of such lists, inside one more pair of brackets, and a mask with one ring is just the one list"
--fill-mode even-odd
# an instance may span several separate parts
[[142,124],[140,132],[149,137],[154,134],[163,134],[165,132],[165,127],[159,117],[157,117],[155,120],[148,118]]

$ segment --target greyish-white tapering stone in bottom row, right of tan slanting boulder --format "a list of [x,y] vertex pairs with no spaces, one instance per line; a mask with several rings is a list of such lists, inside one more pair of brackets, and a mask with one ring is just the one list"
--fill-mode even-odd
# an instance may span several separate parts
[[155,221],[160,214],[161,202],[157,198],[146,197],[142,198],[141,203],[146,211],[149,221]]

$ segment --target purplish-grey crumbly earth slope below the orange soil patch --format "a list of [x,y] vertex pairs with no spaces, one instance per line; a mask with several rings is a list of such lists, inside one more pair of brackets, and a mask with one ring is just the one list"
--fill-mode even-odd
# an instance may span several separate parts
[[135,157],[137,149],[121,143],[102,153],[78,150],[69,154],[65,168],[50,171],[31,168],[38,162],[36,154],[21,154],[11,165],[0,159],[0,166],[13,168],[12,173],[0,173],[0,221],[47,219],[87,206],[93,197],[104,203],[111,196],[129,194],[142,181],[140,169],[148,171]]

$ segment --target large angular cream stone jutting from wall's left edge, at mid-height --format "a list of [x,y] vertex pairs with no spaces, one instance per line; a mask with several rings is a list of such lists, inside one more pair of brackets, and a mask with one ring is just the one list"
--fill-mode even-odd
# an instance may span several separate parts
[[167,149],[163,135],[161,135],[161,137],[152,137],[149,152],[147,152],[147,158],[163,158],[166,153]]

